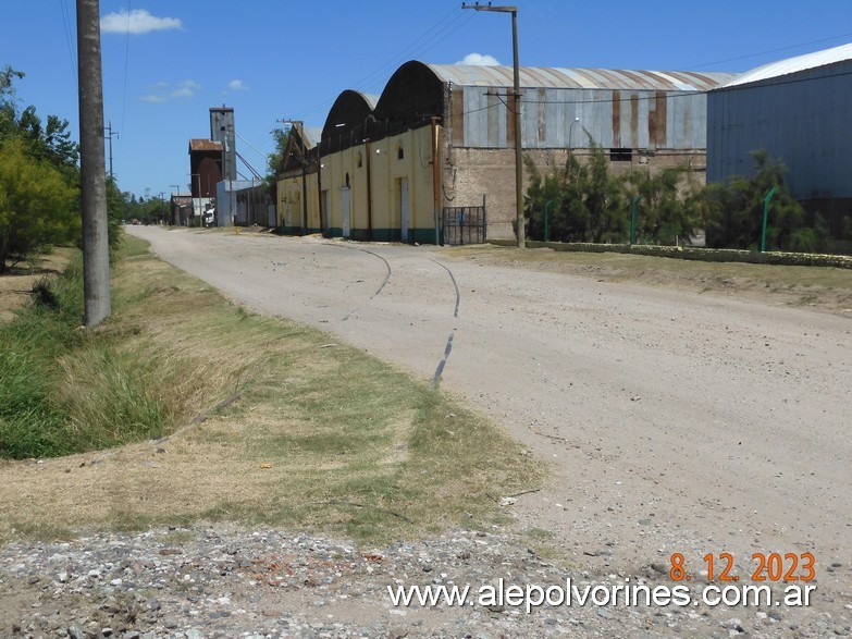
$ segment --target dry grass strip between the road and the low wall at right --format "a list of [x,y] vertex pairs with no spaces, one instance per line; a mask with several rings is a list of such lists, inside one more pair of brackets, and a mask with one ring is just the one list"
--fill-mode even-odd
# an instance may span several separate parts
[[481,263],[529,268],[628,282],[687,288],[696,293],[757,298],[770,304],[852,312],[852,271],[828,267],[702,262],[620,253],[518,250],[492,245],[446,249]]

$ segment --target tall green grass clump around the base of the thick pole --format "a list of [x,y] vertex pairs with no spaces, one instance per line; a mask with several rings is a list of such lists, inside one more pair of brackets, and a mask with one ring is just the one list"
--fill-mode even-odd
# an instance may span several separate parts
[[[109,330],[79,330],[79,258],[0,325],[0,456],[51,457],[161,434],[169,409]],[[155,389],[156,392],[156,389]]]

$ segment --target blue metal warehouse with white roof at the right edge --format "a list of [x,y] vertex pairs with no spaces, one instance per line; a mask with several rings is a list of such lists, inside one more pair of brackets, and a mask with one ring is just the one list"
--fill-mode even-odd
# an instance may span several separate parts
[[834,237],[852,214],[852,44],[774,62],[707,97],[707,180],[752,172],[765,149],[788,168],[788,186],[820,213]]

